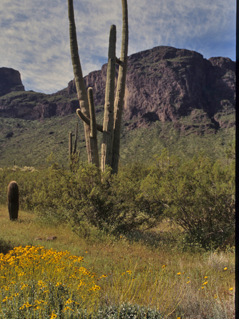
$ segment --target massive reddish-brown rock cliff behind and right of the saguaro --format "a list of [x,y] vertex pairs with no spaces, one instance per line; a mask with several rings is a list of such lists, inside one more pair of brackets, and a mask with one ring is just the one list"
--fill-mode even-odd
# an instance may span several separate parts
[[[159,46],[132,54],[124,98],[124,121],[129,128],[152,121],[176,122],[193,110],[202,110],[215,123],[215,115],[235,110],[236,63],[229,58],[204,59],[195,51]],[[104,104],[106,65],[85,78],[96,105]],[[71,84],[72,85],[72,84]],[[216,125],[217,126],[217,125]]]

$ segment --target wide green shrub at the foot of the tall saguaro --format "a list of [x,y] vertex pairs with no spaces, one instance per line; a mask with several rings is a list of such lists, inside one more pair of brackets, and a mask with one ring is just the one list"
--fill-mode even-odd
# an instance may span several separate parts
[[89,225],[113,234],[152,227],[161,210],[151,207],[139,193],[147,173],[138,164],[118,175],[112,175],[111,168],[102,172],[87,162],[76,163],[71,171],[53,165],[47,178],[37,181],[33,206],[43,217],[69,222],[76,232],[87,233]]

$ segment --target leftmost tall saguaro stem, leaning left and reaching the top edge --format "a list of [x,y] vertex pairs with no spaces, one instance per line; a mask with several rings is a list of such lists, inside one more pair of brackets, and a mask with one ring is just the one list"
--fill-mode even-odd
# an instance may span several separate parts
[[[82,113],[87,118],[90,118],[90,110],[89,110],[89,103],[88,103],[88,96],[87,91],[83,79],[80,57],[78,52],[78,45],[77,45],[77,36],[76,36],[76,25],[75,25],[75,18],[74,18],[74,8],[73,8],[73,0],[68,0],[68,17],[70,23],[70,45],[71,45],[71,59],[72,59],[72,66],[74,71],[77,95],[80,102],[80,107]],[[85,128],[85,137],[86,137],[86,148],[87,148],[87,155],[88,161],[90,163],[95,163],[93,159],[93,141],[90,137],[90,127],[84,122]]]

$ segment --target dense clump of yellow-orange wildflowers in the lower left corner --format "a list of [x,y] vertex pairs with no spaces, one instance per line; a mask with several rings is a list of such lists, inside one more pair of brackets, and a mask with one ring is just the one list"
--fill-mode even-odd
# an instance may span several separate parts
[[[83,267],[83,262],[83,257],[72,256],[68,251],[41,246],[20,246],[6,255],[0,254],[0,311],[17,304],[20,311],[44,312],[52,303],[51,295],[64,289],[74,296],[73,301],[62,294],[64,312],[74,311],[72,305],[82,305],[84,300],[93,302],[101,288],[96,285],[96,275]],[[57,318],[54,311],[51,318]]]

